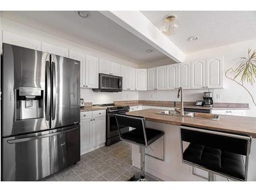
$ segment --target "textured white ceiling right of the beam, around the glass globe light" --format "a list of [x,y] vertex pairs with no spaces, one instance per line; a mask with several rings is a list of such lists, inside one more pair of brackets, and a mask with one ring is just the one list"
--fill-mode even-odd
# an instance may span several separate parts
[[[256,11],[141,11],[158,29],[168,13],[177,15],[179,31],[169,39],[184,53],[256,38]],[[187,41],[197,35],[196,41]]]

